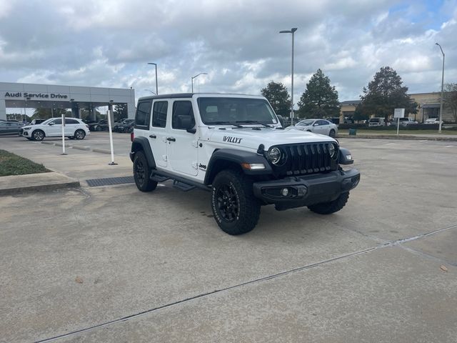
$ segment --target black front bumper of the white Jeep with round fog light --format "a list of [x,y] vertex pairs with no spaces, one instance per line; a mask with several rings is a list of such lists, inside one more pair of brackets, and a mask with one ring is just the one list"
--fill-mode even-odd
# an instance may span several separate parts
[[254,195],[277,209],[291,209],[331,202],[341,193],[355,188],[360,180],[357,169],[336,170],[327,174],[254,182]]

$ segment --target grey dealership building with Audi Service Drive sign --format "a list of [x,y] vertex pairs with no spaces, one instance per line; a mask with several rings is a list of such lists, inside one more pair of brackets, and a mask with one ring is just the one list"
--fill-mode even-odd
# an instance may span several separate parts
[[6,119],[6,109],[71,109],[81,118],[81,109],[89,111],[89,119],[96,119],[96,107],[126,104],[129,118],[135,116],[134,89],[54,84],[19,84],[0,82],[0,119]]

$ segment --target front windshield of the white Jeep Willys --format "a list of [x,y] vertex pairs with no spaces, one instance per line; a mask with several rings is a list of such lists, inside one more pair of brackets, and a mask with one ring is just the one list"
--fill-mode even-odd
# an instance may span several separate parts
[[265,99],[201,97],[198,99],[204,124],[276,124]]

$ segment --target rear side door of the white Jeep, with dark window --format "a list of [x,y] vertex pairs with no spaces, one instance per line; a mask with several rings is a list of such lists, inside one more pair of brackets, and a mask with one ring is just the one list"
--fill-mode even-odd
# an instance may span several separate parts
[[156,100],[152,107],[152,125],[149,130],[149,144],[151,145],[154,159],[157,166],[166,167],[167,165],[167,143],[166,137],[166,118],[169,109],[169,101]]

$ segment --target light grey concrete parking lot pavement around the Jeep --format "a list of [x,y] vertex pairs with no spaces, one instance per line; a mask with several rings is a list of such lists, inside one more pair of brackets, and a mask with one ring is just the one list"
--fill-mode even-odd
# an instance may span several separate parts
[[[0,197],[0,341],[456,342],[457,144],[340,142],[361,172],[341,212],[263,207],[239,237],[169,182]],[[131,175],[121,152],[109,169],[8,145],[77,179]]]

